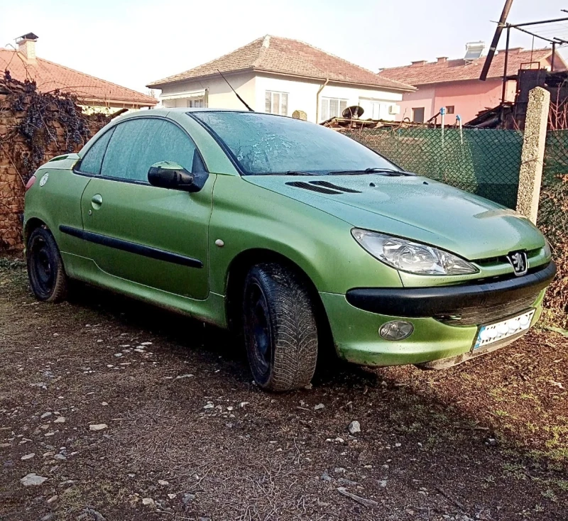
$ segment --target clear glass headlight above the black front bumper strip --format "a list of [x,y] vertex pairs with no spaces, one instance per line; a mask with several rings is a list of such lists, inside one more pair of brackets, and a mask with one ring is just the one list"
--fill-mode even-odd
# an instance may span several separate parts
[[464,275],[478,271],[464,259],[434,246],[356,228],[351,234],[373,257],[397,270],[423,275]]

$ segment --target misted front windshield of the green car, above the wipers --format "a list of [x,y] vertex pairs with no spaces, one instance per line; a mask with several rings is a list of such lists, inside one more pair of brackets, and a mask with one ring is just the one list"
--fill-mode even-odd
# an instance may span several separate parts
[[400,170],[342,133],[307,121],[256,112],[189,114],[217,135],[245,175]]

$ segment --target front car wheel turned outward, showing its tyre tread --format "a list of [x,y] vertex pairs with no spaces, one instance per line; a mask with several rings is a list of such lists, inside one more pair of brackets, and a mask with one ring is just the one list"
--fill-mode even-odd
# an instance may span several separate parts
[[312,380],[317,324],[305,284],[278,263],[253,266],[244,283],[243,334],[253,378],[281,392]]

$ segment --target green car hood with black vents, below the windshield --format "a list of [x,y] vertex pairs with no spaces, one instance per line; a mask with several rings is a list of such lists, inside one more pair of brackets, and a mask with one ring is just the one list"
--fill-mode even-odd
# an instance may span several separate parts
[[[545,245],[536,226],[520,214],[426,177],[249,175],[244,180],[352,226],[439,246],[470,261]],[[322,181],[339,193],[313,191],[333,190],[313,184]]]

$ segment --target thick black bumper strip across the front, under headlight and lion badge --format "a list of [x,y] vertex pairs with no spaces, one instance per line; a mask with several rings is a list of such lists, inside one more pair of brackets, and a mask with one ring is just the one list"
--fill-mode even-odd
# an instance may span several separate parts
[[347,302],[354,307],[396,317],[435,317],[453,314],[463,307],[492,307],[538,292],[556,274],[550,261],[545,268],[522,277],[495,282],[433,287],[360,287],[349,290]]

